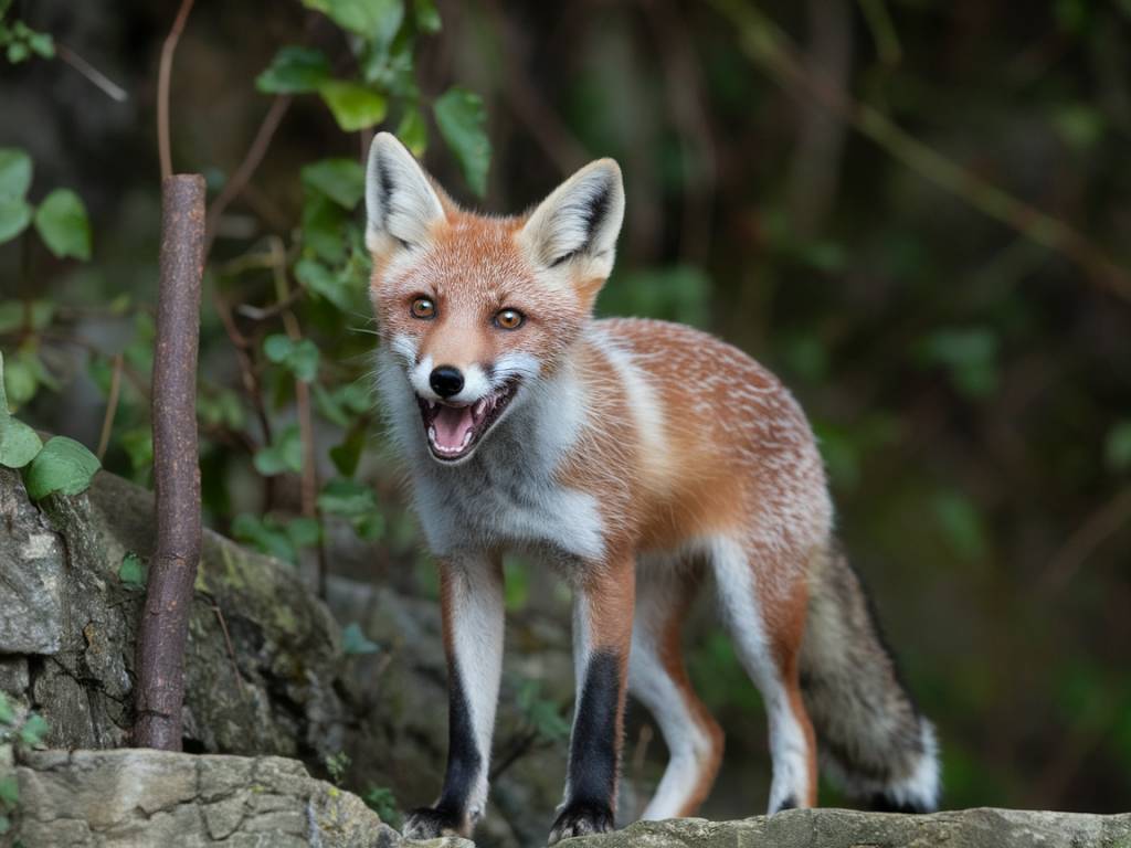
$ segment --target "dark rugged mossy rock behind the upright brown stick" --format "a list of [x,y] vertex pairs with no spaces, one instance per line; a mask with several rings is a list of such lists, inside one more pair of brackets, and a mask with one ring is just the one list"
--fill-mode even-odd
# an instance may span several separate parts
[[[100,473],[37,509],[0,468],[0,689],[48,719],[48,743],[128,744],[144,587],[127,555],[154,545],[153,495]],[[185,747],[301,755],[355,721],[339,629],[288,566],[205,530],[185,654]]]

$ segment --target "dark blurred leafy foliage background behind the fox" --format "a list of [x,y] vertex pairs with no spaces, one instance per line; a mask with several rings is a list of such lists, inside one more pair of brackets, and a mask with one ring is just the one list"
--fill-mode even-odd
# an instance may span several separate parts
[[[797,393],[845,546],[939,725],[947,805],[1125,807],[1131,309],[1093,260],[1125,278],[1131,6],[198,7],[173,75],[179,168],[215,199],[271,98],[294,98],[215,222],[198,398],[210,525],[312,585],[321,560],[435,596],[373,407],[363,152],[395,131],[454,197],[498,213],[614,156],[628,208],[598,312],[711,329]],[[758,14],[752,28],[732,7]],[[169,24],[139,0],[0,1],[10,60],[68,45],[131,95],[111,103],[58,60],[0,81],[8,403],[104,442],[104,465],[141,483]],[[854,135],[828,90],[871,131]],[[1017,201],[1045,217],[1017,220]],[[516,621],[564,620],[546,574],[517,559],[506,574]],[[728,734],[706,812],[749,814],[768,784],[758,693],[710,616],[688,647]],[[566,733],[568,706],[532,685],[516,689],[517,738]]]

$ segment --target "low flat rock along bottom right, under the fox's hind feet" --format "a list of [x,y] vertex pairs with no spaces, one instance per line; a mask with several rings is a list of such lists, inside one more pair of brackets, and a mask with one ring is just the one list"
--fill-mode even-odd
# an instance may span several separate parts
[[789,810],[736,822],[638,822],[563,848],[1124,848],[1131,813],[956,810],[931,815]]

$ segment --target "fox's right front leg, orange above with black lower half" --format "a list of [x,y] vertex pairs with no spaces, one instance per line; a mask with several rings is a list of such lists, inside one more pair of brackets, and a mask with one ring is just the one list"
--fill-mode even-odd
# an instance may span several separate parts
[[631,556],[592,568],[578,588],[573,603],[573,732],[566,799],[549,845],[615,827],[634,595]]

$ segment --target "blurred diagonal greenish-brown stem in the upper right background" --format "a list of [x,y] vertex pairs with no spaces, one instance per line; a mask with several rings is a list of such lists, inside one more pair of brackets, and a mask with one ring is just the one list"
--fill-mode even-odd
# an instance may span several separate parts
[[746,57],[794,96],[815,98],[912,171],[1030,241],[1072,260],[1094,283],[1131,303],[1131,276],[1078,230],[958,165],[866,103],[838,93],[823,75],[804,66],[788,36],[757,8],[739,0],[711,2],[737,29]]

